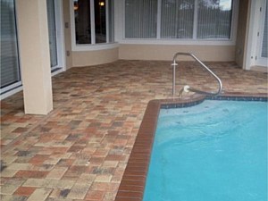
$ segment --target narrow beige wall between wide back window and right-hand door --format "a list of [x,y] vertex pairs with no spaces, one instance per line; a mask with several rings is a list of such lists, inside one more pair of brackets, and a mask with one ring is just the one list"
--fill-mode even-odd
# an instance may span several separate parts
[[244,0],[243,4],[239,4],[239,22],[236,42],[236,63],[241,68],[245,65],[245,52],[247,50],[247,28],[248,28],[248,0]]

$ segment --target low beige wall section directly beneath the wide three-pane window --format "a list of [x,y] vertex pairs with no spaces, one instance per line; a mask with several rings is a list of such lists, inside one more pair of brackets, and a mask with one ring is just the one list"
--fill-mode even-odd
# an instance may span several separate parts
[[[235,61],[235,46],[174,46],[174,45],[120,45],[119,59],[125,60],[172,60],[173,54],[196,54],[202,61]],[[181,57],[189,60],[189,57]]]

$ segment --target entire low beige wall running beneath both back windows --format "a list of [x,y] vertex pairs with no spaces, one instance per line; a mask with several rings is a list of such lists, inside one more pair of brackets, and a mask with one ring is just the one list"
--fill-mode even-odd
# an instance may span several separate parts
[[[177,52],[196,54],[202,61],[235,61],[235,46],[172,46],[172,45],[133,45],[94,51],[72,51],[72,66],[90,66],[122,60],[172,60]],[[181,57],[182,60],[191,60]]]

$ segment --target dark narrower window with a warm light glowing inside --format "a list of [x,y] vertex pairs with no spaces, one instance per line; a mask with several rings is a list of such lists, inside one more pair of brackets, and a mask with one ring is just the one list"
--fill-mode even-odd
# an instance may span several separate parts
[[113,1],[73,0],[77,45],[113,42]]

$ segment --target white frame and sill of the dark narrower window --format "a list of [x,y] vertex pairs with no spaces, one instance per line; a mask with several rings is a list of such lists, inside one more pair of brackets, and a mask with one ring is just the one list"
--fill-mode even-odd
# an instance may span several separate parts
[[[94,5],[94,0],[90,1],[90,5]],[[115,42],[106,42],[96,44],[95,37],[95,11],[94,6],[90,6],[90,24],[91,24],[91,44],[76,44],[75,39],[75,22],[74,22],[74,9],[73,9],[73,0],[70,0],[70,16],[71,16],[71,50],[72,51],[92,51],[92,50],[104,50],[104,49],[113,49],[119,45]],[[105,13],[106,13],[106,41],[109,41],[109,11],[108,11],[108,0],[105,0]]]

